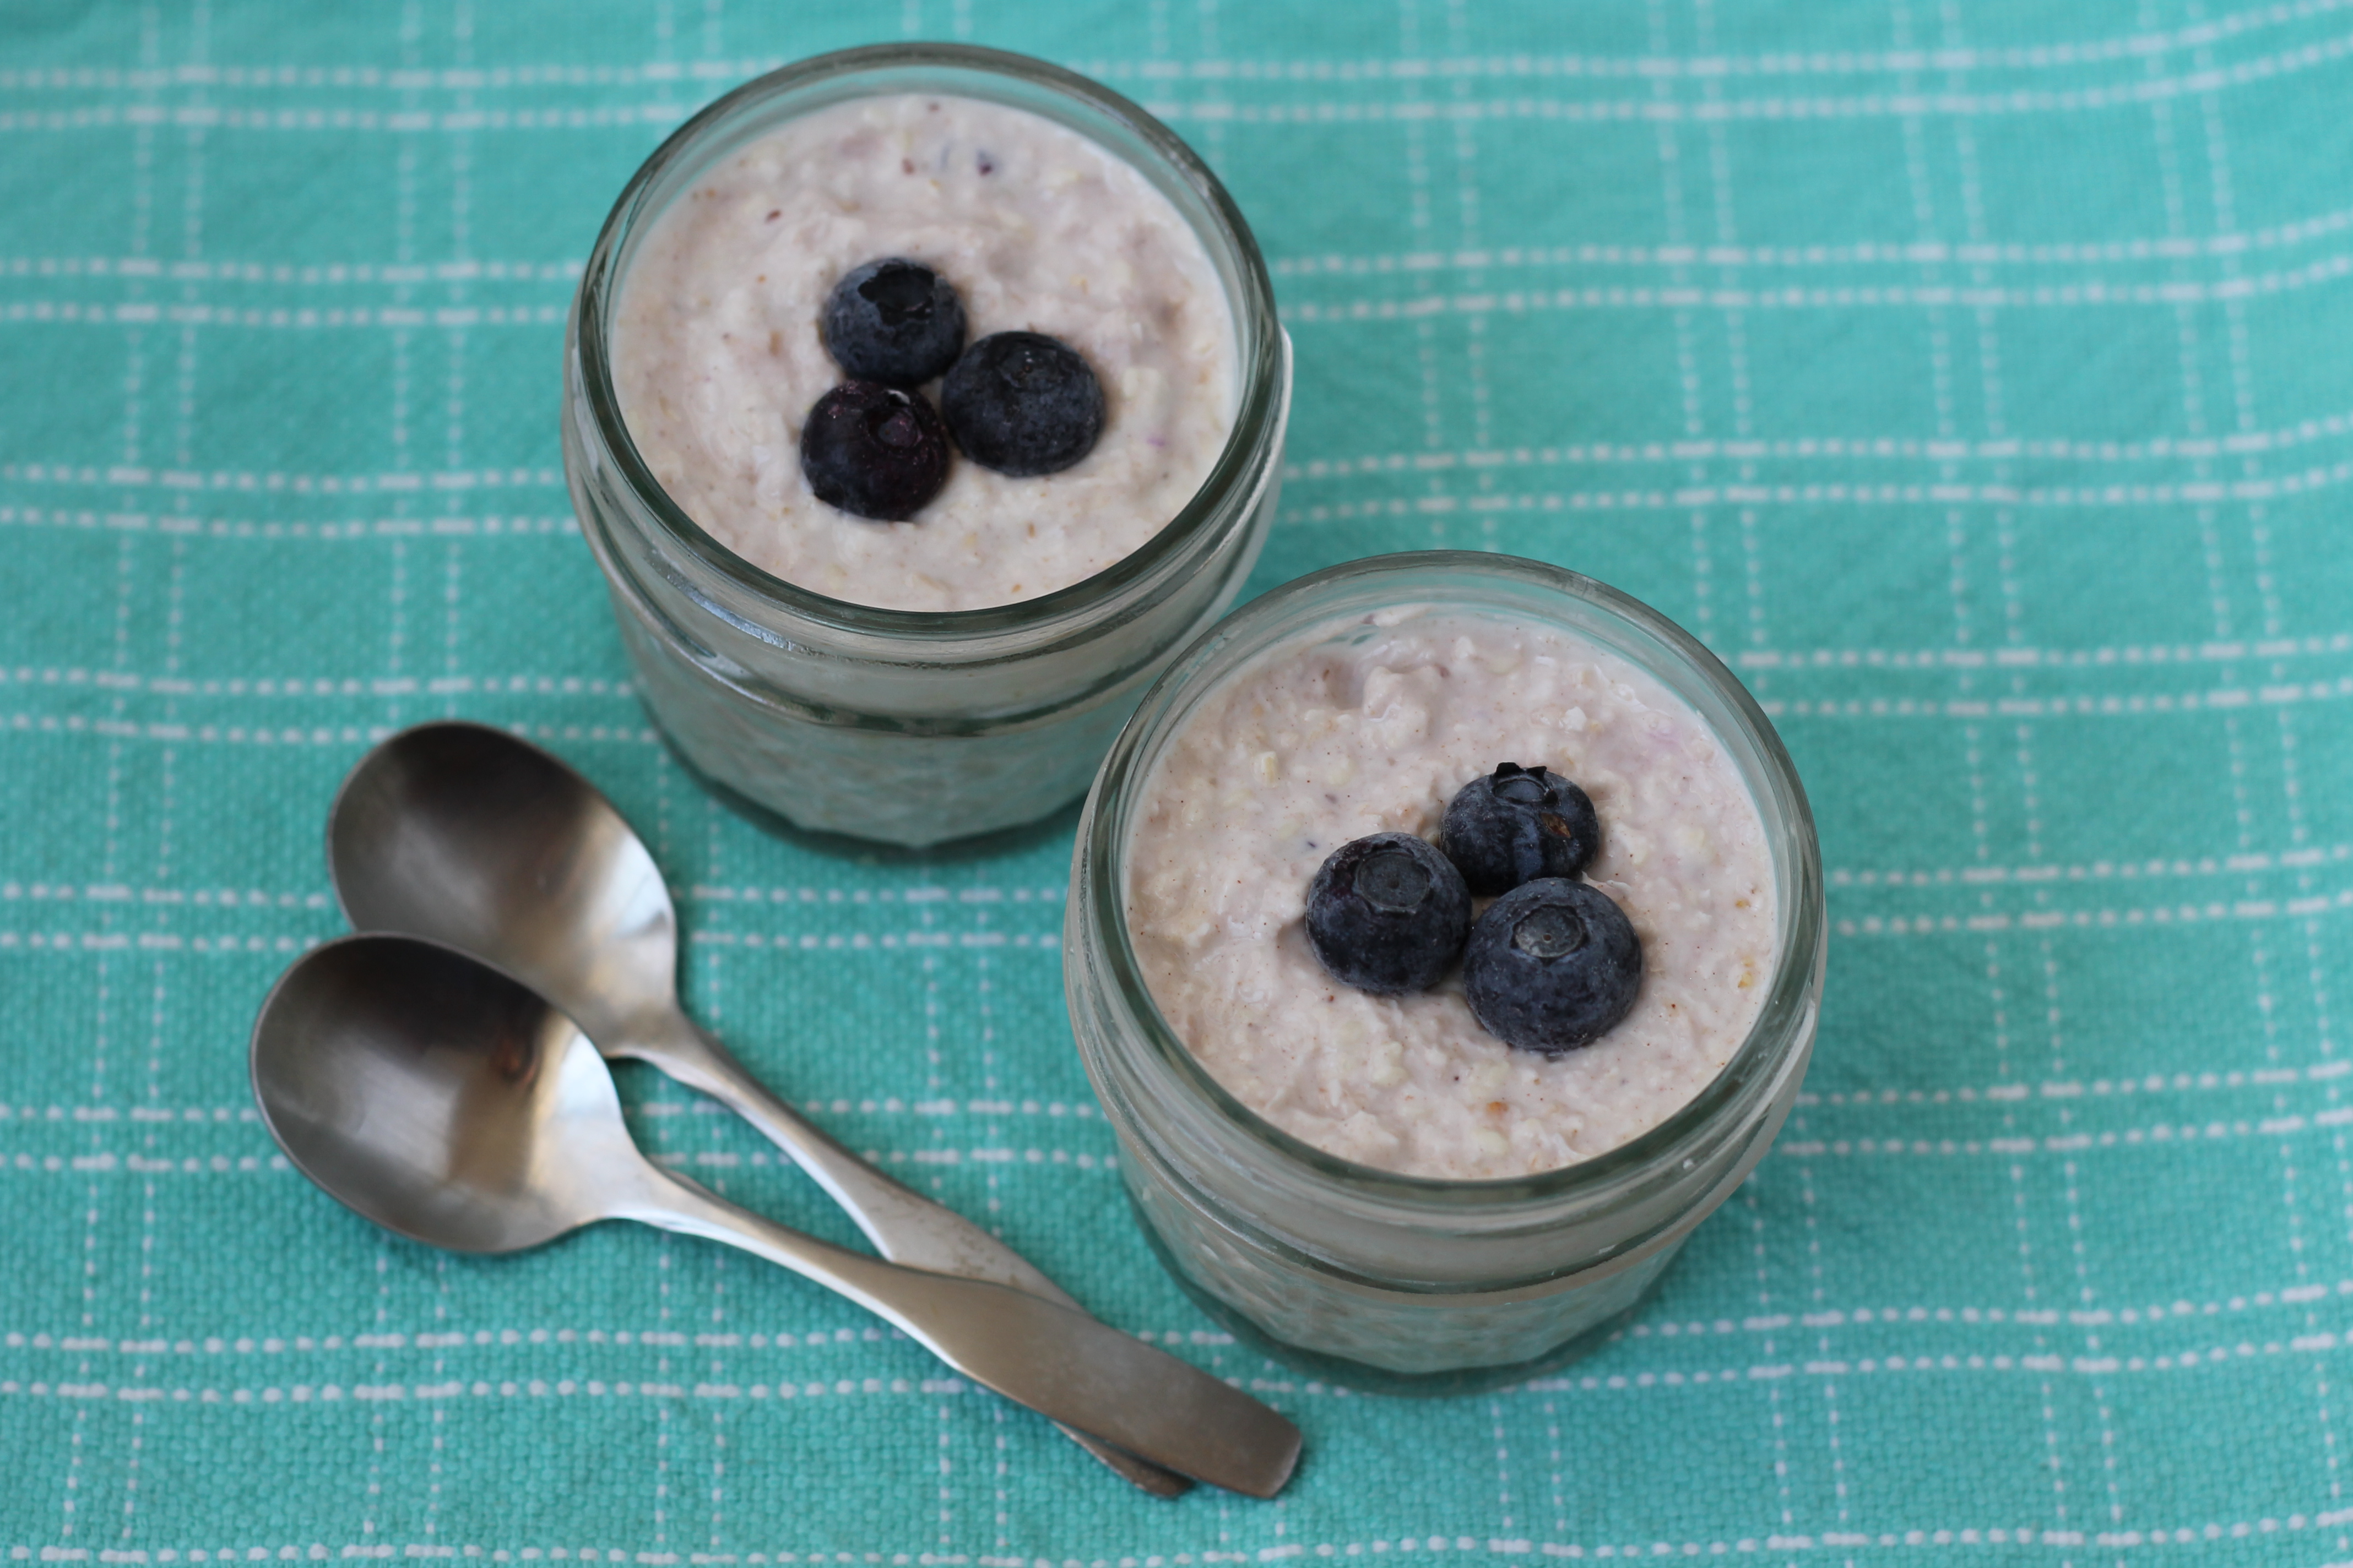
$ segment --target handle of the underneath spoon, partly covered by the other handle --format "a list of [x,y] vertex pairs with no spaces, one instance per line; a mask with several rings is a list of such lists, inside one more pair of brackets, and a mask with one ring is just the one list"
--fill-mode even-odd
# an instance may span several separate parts
[[[1005,1246],[986,1229],[934,1204],[873,1168],[824,1128],[767,1091],[727,1046],[685,1013],[664,1037],[633,1037],[616,1053],[628,1053],[687,1088],[699,1088],[727,1110],[751,1121],[769,1143],[793,1157],[826,1194],[840,1204],[875,1251],[892,1262],[934,1274],[958,1274],[1009,1286],[1038,1300],[1078,1309],[1078,1302],[1028,1258]],[[1158,1465],[1122,1453],[1101,1439],[1064,1427],[1080,1448],[1155,1497],[1181,1497],[1191,1481]]]

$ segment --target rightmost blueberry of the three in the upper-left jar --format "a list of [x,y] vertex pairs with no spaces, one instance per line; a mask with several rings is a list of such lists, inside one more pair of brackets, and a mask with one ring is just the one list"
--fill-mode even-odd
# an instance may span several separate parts
[[1104,386],[1075,348],[1042,331],[1000,331],[967,348],[939,407],[967,458],[1016,480],[1061,473],[1104,433]]

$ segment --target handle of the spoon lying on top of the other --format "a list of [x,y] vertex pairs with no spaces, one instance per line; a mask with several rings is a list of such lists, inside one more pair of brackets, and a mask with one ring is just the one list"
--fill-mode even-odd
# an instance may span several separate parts
[[814,1279],[981,1387],[1179,1474],[1273,1497],[1299,1462],[1299,1427],[1289,1420],[1075,1307],[852,1253],[659,1166],[647,1166],[645,1187],[607,1213],[725,1241]]

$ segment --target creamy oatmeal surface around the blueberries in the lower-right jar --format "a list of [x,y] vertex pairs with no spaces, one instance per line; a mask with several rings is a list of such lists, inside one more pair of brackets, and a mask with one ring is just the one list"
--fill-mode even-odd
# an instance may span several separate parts
[[[1642,938],[1633,1011],[1560,1058],[1487,1034],[1459,971],[1374,997],[1304,931],[1325,856],[1435,842],[1499,762],[1584,785],[1586,879]],[[1659,682],[1567,632],[1407,609],[1292,639],[1193,710],[1136,816],[1127,926],[1153,1001],[1245,1105],[1360,1164],[1489,1180],[1602,1154],[1722,1072],[1772,978],[1774,882],[1739,771]]]

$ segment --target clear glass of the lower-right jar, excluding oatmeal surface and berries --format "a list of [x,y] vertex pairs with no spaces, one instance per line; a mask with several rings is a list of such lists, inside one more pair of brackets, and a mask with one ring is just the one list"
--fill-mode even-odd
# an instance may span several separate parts
[[[1395,1175],[1275,1128],[1202,1070],[1153,1004],[1127,936],[1141,792],[1200,701],[1318,625],[1433,607],[1584,637],[1657,677],[1715,731],[1765,820],[1779,943],[1765,1006],[1725,1072],[1664,1124],[1541,1175]],[[1821,851],[1788,752],[1748,691],[1666,616],[1558,567],[1386,555],[1299,578],[1186,649],[1104,759],[1071,865],[1064,985],[1120,1171],[1179,1284],[1273,1356],[1351,1387],[1461,1392],[1569,1359],[1633,1309],[1779,1133],[1814,1046]]]

